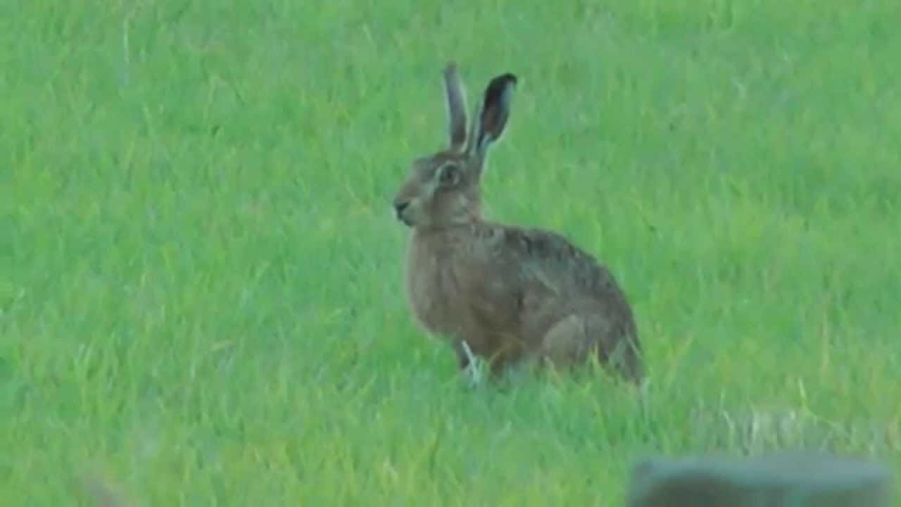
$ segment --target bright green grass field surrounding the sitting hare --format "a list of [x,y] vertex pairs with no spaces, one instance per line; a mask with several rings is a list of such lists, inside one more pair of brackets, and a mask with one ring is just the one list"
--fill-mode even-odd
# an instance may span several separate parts
[[[901,465],[896,0],[0,5],[0,491],[620,505],[648,454]],[[390,199],[520,78],[489,217],[633,300],[645,403],[460,380]]]

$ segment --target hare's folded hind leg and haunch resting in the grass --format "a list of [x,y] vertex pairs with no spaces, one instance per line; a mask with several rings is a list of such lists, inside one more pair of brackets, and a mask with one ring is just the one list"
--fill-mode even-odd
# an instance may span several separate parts
[[631,336],[616,332],[608,318],[573,313],[558,320],[542,340],[542,359],[555,369],[569,369],[597,355],[604,365],[613,365],[626,380],[642,382],[642,364]]

